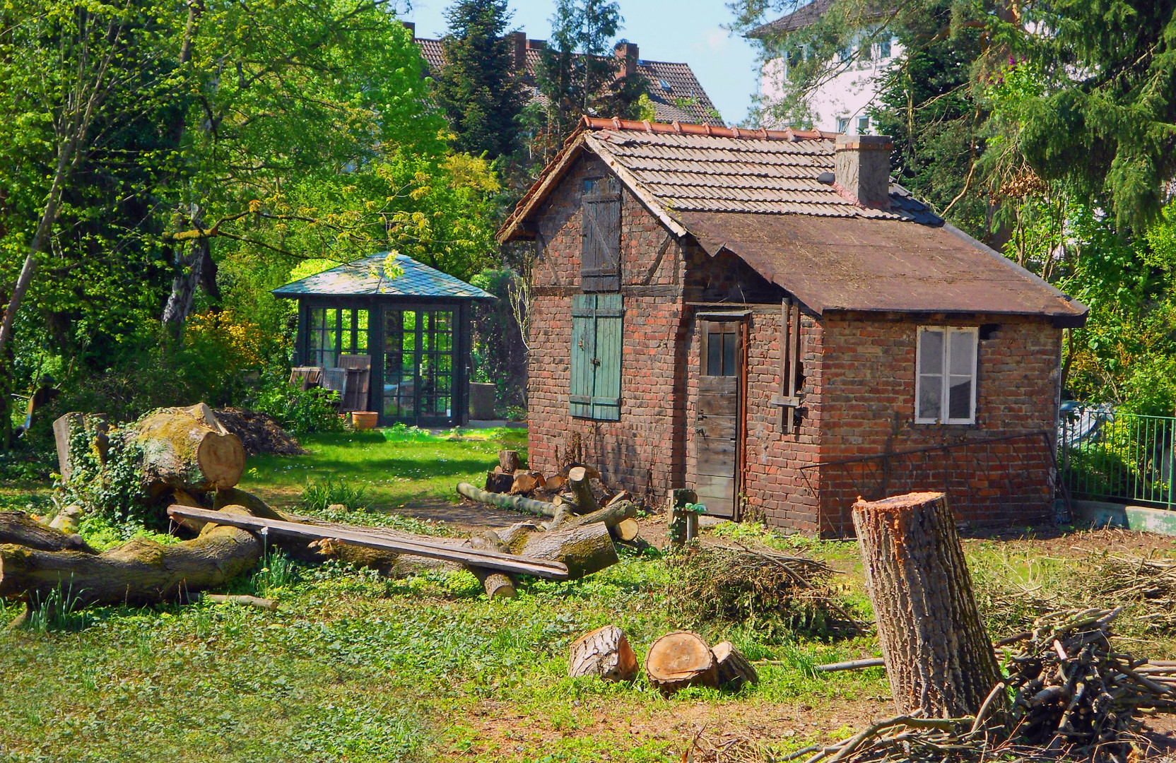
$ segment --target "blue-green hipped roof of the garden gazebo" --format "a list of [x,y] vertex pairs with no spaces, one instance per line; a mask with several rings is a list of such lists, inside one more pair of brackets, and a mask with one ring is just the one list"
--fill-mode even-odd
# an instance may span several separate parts
[[449,300],[493,300],[494,295],[470,286],[461,279],[421,265],[416,260],[395,255],[394,262],[400,275],[388,277],[385,265],[389,253],[383,252],[362,260],[340,265],[316,275],[280,286],[274,296],[295,297],[303,295],[360,296],[428,296]]

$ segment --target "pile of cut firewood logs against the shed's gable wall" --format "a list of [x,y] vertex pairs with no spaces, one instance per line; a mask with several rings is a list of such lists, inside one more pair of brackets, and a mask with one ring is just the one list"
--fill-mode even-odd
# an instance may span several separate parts
[[603,522],[616,541],[634,541],[640,527],[636,515],[640,500],[627,490],[610,490],[593,467],[570,463],[559,474],[544,477],[519,466],[514,450],[499,453],[499,466],[486,474],[486,489],[457,483],[457,493],[479,503],[548,517],[546,530],[568,529]]

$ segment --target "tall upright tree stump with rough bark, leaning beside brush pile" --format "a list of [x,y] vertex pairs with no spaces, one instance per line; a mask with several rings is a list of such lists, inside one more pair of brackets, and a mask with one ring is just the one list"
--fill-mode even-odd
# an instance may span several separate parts
[[898,712],[975,715],[1001,674],[947,498],[858,501],[853,514]]

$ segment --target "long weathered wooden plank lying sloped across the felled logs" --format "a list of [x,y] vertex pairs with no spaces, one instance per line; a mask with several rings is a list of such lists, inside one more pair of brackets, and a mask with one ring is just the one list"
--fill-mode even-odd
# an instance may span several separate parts
[[562,562],[548,562],[544,560],[529,558],[527,556],[514,556],[513,554],[500,554],[499,551],[487,551],[473,548],[457,548],[443,543],[434,543],[423,538],[389,538],[366,531],[365,528],[352,527],[340,529],[338,527],[318,527],[314,524],[302,524],[300,522],[282,522],[279,520],[267,520],[259,516],[234,516],[208,509],[196,509],[191,506],[171,506],[168,515],[180,518],[200,520],[215,524],[227,524],[239,527],[250,533],[274,533],[278,535],[293,535],[312,540],[334,538],[345,543],[354,543],[367,548],[377,548],[387,551],[400,551],[402,554],[414,554],[429,558],[440,558],[448,562],[470,564],[489,570],[502,573],[519,573],[547,577],[552,580],[567,580],[568,568]]

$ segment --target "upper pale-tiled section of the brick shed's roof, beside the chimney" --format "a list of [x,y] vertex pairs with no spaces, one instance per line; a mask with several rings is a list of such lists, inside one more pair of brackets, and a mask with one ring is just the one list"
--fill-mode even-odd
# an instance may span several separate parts
[[926,206],[891,186],[889,210],[862,207],[817,175],[833,172],[833,140],[766,140],[643,129],[600,129],[590,139],[663,207],[674,212],[750,212],[875,217],[940,225]]

